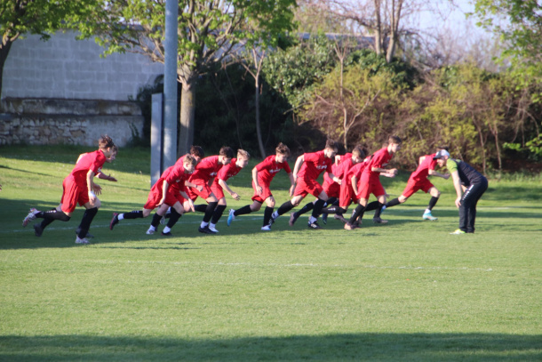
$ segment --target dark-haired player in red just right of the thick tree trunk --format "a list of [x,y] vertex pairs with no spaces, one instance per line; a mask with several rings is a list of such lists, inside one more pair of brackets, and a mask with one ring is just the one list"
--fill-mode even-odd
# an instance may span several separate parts
[[[195,211],[203,211],[203,221],[198,228],[199,232],[203,234],[216,234],[219,231],[215,228],[215,224],[209,223],[213,214],[216,211],[217,205],[219,205],[219,199],[212,193],[211,190],[211,179],[215,177],[222,166],[229,165],[232,158],[234,157],[234,150],[229,147],[223,147],[219,151],[218,156],[205,157],[203,160],[195,166],[195,172],[190,176],[190,182],[195,183],[202,188],[198,189],[189,189],[188,197],[191,201],[195,201],[197,197],[202,197],[207,201],[207,205],[198,205],[195,208]],[[185,201],[185,204],[187,201]],[[187,204],[186,204],[187,205]],[[185,207],[186,209],[187,207]],[[224,209],[222,209],[222,212]],[[221,215],[222,212],[217,211],[217,215]],[[216,220],[219,219],[217,217]]]

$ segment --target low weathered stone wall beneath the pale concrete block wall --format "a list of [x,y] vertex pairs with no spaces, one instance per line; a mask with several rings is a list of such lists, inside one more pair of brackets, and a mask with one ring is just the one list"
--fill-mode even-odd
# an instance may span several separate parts
[[129,101],[7,98],[1,106],[0,145],[96,146],[108,134],[123,147],[143,133],[141,110]]

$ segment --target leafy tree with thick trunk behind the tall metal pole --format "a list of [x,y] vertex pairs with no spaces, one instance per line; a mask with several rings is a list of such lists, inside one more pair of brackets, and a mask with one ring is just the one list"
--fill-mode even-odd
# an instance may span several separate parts
[[[84,36],[112,52],[139,52],[163,63],[165,0],[102,0],[97,21],[83,29]],[[181,0],[179,1],[180,95],[178,154],[186,153],[194,139],[195,86],[212,63],[239,52],[239,44],[257,28],[278,36],[291,28],[294,0]]]

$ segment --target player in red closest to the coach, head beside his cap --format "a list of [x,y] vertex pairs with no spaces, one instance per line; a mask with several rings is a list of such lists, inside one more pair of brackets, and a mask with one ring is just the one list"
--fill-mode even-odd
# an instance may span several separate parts
[[418,168],[416,169],[416,171],[410,174],[409,181],[407,182],[407,186],[403,190],[403,193],[400,197],[395,197],[393,200],[388,201],[386,204],[386,208],[403,204],[406,200],[409,199],[410,196],[412,196],[414,193],[418,192],[418,190],[421,189],[425,193],[429,193],[429,195],[431,195],[431,199],[429,199],[429,205],[427,206],[426,211],[422,216],[423,220],[438,220],[438,218],[433,216],[431,211],[433,210],[434,205],[436,205],[439,197],[441,197],[441,192],[434,187],[431,181],[427,180],[427,176],[437,176],[442,177],[442,179],[444,180],[448,180],[450,178],[450,173],[444,174],[434,171],[434,166],[436,165],[436,160],[434,159],[435,156],[436,153],[419,157]]

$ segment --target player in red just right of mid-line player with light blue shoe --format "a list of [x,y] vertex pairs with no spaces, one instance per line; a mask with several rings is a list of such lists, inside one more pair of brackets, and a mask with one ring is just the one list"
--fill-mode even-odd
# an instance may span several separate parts
[[285,202],[272,214],[271,222],[275,222],[280,215],[289,212],[292,208],[299,205],[303,198],[308,194],[311,194],[318,197],[318,199],[315,202],[313,213],[308,220],[308,227],[311,229],[322,229],[322,227],[318,225],[318,216],[320,216],[323,205],[325,205],[325,202],[328,200],[328,196],[316,179],[320,173],[325,171],[330,173],[330,177],[333,181],[340,184],[340,180],[333,175],[331,170],[336,155],[337,143],[328,140],[325,144],[325,149],[322,151],[305,153],[298,157],[293,169],[293,178],[294,181],[296,181],[296,188],[293,193],[294,196],[290,201]]

